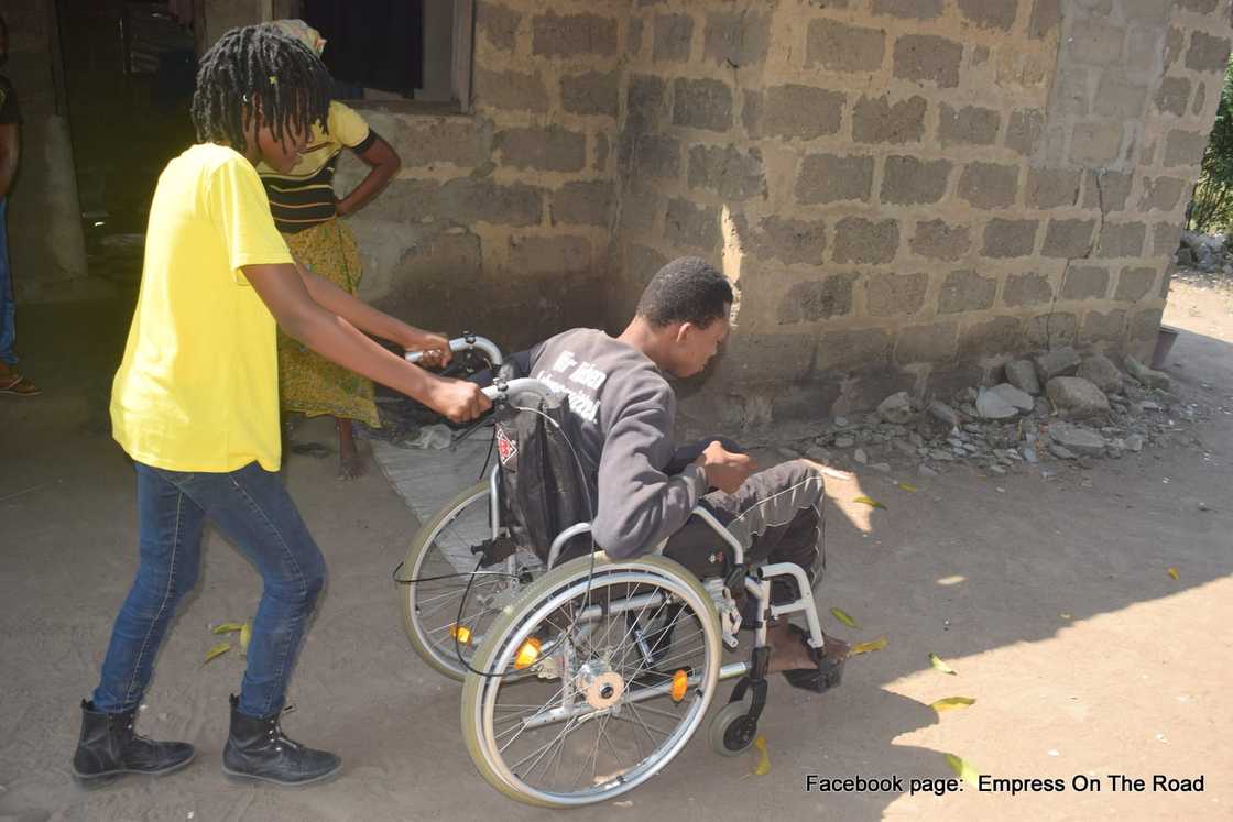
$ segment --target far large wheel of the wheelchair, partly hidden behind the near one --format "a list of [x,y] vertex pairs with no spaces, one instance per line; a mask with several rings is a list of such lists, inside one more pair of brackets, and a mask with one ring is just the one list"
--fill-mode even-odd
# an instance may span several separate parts
[[401,579],[427,580],[399,583],[407,638],[424,662],[459,682],[496,615],[541,568],[522,551],[480,567],[481,555],[472,548],[492,537],[490,493],[481,482],[446,503],[416,534],[398,573]]

